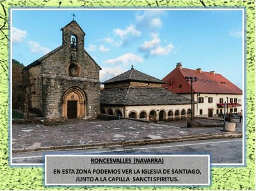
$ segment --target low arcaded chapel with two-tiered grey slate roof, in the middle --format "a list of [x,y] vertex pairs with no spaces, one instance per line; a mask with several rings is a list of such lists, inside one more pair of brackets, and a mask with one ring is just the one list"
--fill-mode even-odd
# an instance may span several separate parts
[[191,116],[191,100],[167,91],[163,88],[163,81],[133,67],[102,84],[102,114],[154,122],[185,119]]

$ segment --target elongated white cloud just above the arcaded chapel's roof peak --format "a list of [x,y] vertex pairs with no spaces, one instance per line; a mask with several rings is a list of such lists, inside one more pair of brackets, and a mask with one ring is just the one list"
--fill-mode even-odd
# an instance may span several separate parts
[[131,54],[131,53],[127,53],[124,54],[122,56],[116,57],[115,59],[108,59],[106,61],[104,61],[104,64],[111,64],[111,65],[132,65],[135,63],[142,63],[143,62],[143,58],[136,56],[135,54]]

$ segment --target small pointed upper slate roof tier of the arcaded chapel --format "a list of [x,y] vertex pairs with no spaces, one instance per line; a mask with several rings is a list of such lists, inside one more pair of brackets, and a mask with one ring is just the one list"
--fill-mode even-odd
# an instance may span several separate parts
[[109,80],[106,80],[105,82],[102,82],[101,84],[115,84],[119,82],[153,82],[157,84],[164,84],[162,80],[156,79],[155,77],[152,77],[150,75],[147,75],[145,73],[139,72],[138,70],[135,70],[133,67],[131,70],[128,70],[127,72],[121,73],[120,75],[117,75],[116,77],[113,77]]

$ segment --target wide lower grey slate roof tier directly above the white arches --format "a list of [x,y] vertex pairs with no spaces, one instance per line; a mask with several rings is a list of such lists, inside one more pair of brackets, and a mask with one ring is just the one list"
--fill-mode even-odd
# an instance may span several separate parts
[[182,105],[191,104],[184,96],[164,88],[113,88],[101,91],[102,105]]

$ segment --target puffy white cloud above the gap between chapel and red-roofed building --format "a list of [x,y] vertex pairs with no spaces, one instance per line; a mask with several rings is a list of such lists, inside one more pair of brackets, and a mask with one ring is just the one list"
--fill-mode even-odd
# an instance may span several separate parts
[[162,47],[159,34],[150,33],[150,37],[152,40],[142,43],[139,48],[140,52],[145,53],[145,57],[167,55],[174,49],[174,46],[171,43],[166,45],[166,47]]

